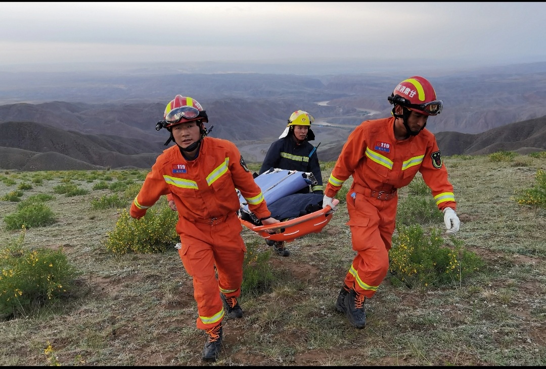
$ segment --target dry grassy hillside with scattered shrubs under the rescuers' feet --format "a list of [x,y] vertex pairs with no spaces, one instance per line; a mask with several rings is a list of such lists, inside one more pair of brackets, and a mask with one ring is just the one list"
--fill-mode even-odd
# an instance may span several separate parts
[[[390,270],[367,326],[335,309],[352,259],[345,197],[319,234],[247,245],[213,365],[546,365],[546,155],[444,159],[460,231],[422,178],[400,190]],[[323,162],[328,179],[334,162]],[[258,171],[257,165],[251,171]],[[127,210],[147,171],[0,172],[0,365],[203,365],[192,280],[162,198]]]

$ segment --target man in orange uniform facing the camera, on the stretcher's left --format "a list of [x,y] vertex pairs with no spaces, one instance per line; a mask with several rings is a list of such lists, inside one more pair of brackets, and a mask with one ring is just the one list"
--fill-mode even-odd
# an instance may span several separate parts
[[263,224],[278,220],[270,217],[262,191],[236,146],[205,137],[204,124],[208,121],[205,110],[192,98],[176,95],[169,102],[156,129],[166,128],[171,134],[169,141],[176,145],[158,156],[131,205],[130,215],[139,219],[159,197],[172,194],[179,213],[176,232],[181,244],[177,248],[193,278],[197,328],[206,332],[202,358],[214,361],[222,346],[225,312],[230,318],[242,317],[237,298],[246,247],[236,214],[240,203],[235,189],[241,191]]

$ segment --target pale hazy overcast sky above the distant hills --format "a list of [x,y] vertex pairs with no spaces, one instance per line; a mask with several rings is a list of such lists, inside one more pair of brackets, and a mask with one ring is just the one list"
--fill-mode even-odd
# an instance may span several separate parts
[[322,58],[541,62],[544,25],[544,2],[0,2],[0,67]]

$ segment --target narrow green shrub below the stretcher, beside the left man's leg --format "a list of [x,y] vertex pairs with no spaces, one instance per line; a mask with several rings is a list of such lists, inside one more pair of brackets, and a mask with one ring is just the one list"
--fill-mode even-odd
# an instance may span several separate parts
[[245,259],[242,265],[241,293],[254,297],[268,291],[275,281],[275,276],[269,265],[271,250],[260,251],[260,245],[257,241],[246,244]]

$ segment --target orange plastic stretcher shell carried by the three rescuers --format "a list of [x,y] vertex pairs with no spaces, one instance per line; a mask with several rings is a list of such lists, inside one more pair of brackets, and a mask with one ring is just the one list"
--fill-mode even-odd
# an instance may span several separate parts
[[[335,198],[333,201],[334,206],[338,203],[339,200]],[[240,215],[239,220],[242,225],[265,239],[290,242],[309,233],[321,232],[322,228],[332,219],[333,214],[334,210],[327,206],[311,214],[266,226],[254,225],[249,221],[241,219]]]

